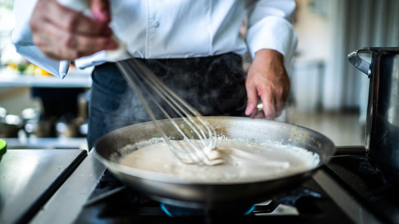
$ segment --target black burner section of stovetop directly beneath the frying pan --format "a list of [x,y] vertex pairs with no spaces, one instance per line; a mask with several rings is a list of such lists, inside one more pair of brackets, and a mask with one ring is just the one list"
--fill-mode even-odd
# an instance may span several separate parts
[[[292,210],[285,210],[287,205]],[[102,223],[351,223],[313,180],[303,183],[285,196],[256,205],[227,206],[221,210],[181,208],[160,204],[135,190],[125,187],[105,171],[97,187],[86,201],[74,224]]]

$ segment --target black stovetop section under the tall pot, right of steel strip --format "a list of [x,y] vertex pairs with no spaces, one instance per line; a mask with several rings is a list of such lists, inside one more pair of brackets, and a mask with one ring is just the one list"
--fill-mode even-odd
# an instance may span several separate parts
[[399,181],[376,170],[363,148],[346,149],[324,169],[381,222],[399,223]]

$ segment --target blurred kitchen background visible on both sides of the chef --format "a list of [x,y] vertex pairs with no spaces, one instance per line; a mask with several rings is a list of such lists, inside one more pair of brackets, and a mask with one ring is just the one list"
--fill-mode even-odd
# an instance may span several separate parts
[[[296,2],[298,48],[290,100],[279,120],[319,131],[338,146],[363,145],[369,79],[347,55],[399,47],[399,1]],[[13,26],[13,1],[0,0],[0,138],[9,139],[10,148],[87,147],[91,68],[72,68],[64,80],[52,77],[15,53]]]

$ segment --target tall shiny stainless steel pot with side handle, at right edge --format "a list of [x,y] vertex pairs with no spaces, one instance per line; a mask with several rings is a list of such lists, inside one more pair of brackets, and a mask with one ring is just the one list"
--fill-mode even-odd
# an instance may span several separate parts
[[[371,64],[358,54],[371,54]],[[364,48],[348,60],[370,78],[365,148],[376,168],[399,178],[399,48]]]

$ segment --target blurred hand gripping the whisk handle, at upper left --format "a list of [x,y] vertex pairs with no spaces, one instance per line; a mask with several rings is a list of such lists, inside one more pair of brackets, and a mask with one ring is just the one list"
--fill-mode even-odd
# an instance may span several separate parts
[[29,25],[33,42],[45,55],[55,60],[74,60],[118,47],[108,27],[108,0],[87,1],[94,18],[63,7],[56,0],[37,1]]

